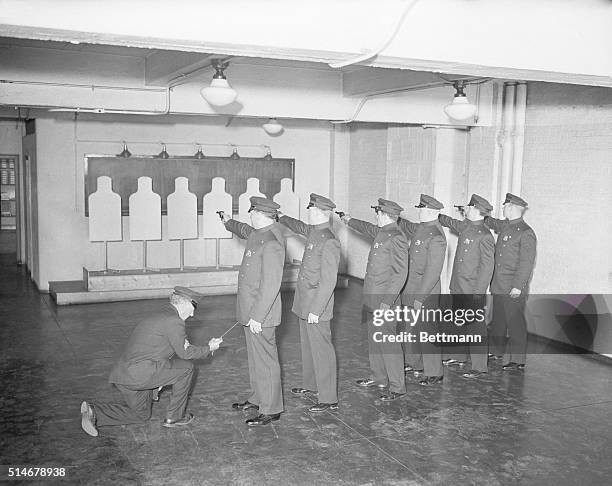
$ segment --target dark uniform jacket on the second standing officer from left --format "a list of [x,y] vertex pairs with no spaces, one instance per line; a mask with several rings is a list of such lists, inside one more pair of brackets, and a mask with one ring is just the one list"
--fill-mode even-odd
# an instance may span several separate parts
[[329,223],[310,225],[289,216],[282,216],[279,221],[307,238],[291,310],[301,319],[313,313],[320,321],[330,321],[340,264],[340,242]]

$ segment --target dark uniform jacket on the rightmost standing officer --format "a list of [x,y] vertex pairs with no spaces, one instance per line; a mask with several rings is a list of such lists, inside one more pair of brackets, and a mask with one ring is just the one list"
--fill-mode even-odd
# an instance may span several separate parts
[[512,289],[519,289],[527,294],[536,256],[533,229],[523,218],[509,221],[486,217],[485,224],[498,234],[491,293],[509,294]]

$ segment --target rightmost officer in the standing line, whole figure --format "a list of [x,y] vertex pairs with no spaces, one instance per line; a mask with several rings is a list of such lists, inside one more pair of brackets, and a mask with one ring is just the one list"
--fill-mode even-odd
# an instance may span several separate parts
[[[537,240],[531,226],[523,220],[527,209],[524,199],[507,193],[503,208],[505,220],[485,218],[485,224],[498,235],[491,282],[493,322],[489,329],[489,345],[494,355],[505,352],[504,370],[522,370],[527,353],[525,304]],[[509,335],[508,343],[506,334]]]

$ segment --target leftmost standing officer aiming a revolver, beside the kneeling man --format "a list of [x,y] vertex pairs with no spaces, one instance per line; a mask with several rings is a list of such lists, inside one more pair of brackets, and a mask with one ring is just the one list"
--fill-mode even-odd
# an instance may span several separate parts
[[232,408],[259,410],[246,421],[258,426],[278,420],[283,411],[276,326],[281,323],[285,238],[276,222],[280,206],[265,197],[253,196],[250,201],[252,226],[223,213],[221,219],[228,231],[247,240],[238,273],[236,320],[245,326],[251,395]]

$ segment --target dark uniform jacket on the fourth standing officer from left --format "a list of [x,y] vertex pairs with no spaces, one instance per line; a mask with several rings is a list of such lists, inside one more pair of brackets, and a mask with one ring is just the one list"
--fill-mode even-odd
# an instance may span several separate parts
[[441,291],[440,274],[446,257],[446,236],[438,221],[413,223],[400,219],[399,227],[411,239],[410,272],[402,301],[411,306]]

